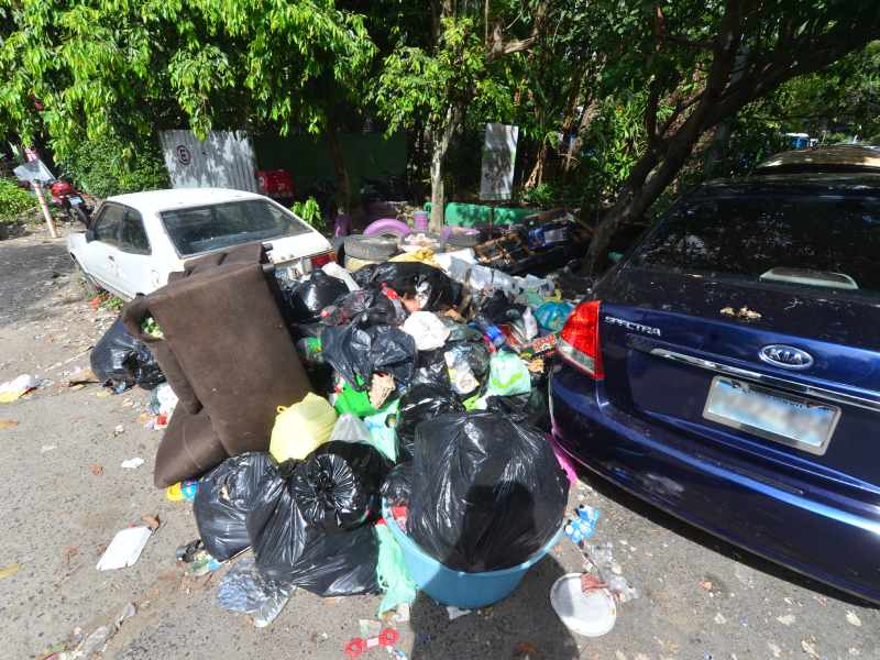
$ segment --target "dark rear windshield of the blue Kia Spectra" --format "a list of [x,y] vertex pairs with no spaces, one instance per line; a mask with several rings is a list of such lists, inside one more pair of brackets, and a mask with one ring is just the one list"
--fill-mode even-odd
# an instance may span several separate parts
[[684,202],[635,255],[646,266],[875,295],[879,258],[877,200],[773,196]]

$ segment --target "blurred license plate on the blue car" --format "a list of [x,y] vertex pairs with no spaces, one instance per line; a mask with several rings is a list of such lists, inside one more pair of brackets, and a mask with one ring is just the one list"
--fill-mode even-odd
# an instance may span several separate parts
[[840,408],[716,376],[708,389],[703,417],[822,455],[840,418]]

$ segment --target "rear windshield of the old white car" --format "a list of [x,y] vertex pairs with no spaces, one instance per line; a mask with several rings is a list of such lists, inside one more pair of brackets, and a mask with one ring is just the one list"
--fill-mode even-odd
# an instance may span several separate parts
[[163,211],[161,216],[180,256],[311,231],[305,222],[263,199]]

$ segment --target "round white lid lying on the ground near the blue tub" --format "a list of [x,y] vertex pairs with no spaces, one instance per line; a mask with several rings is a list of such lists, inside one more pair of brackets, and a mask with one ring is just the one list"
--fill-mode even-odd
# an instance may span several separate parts
[[584,592],[580,573],[568,573],[553,583],[550,604],[569,630],[585,637],[602,637],[617,620],[612,593],[606,588]]

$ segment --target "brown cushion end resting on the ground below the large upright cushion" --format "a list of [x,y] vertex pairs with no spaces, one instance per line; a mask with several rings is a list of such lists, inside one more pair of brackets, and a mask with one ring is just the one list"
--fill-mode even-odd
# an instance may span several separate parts
[[156,450],[153,483],[157,488],[165,488],[178,481],[198,476],[227,458],[208,414],[201,410],[193,415],[178,406]]

